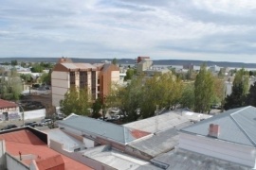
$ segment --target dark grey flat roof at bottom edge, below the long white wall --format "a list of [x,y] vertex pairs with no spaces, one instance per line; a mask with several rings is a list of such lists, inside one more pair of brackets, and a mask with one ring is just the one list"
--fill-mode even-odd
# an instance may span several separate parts
[[188,170],[188,169],[249,170],[251,169],[241,164],[236,164],[230,161],[223,161],[223,160],[212,158],[206,155],[185,151],[181,149],[164,153],[151,161],[154,164],[164,165],[165,169],[167,170]]

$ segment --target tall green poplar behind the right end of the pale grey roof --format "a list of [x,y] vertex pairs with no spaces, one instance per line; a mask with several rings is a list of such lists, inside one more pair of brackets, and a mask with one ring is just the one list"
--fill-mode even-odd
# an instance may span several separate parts
[[194,82],[194,111],[210,111],[214,94],[213,82],[213,76],[207,71],[206,65],[203,64]]

